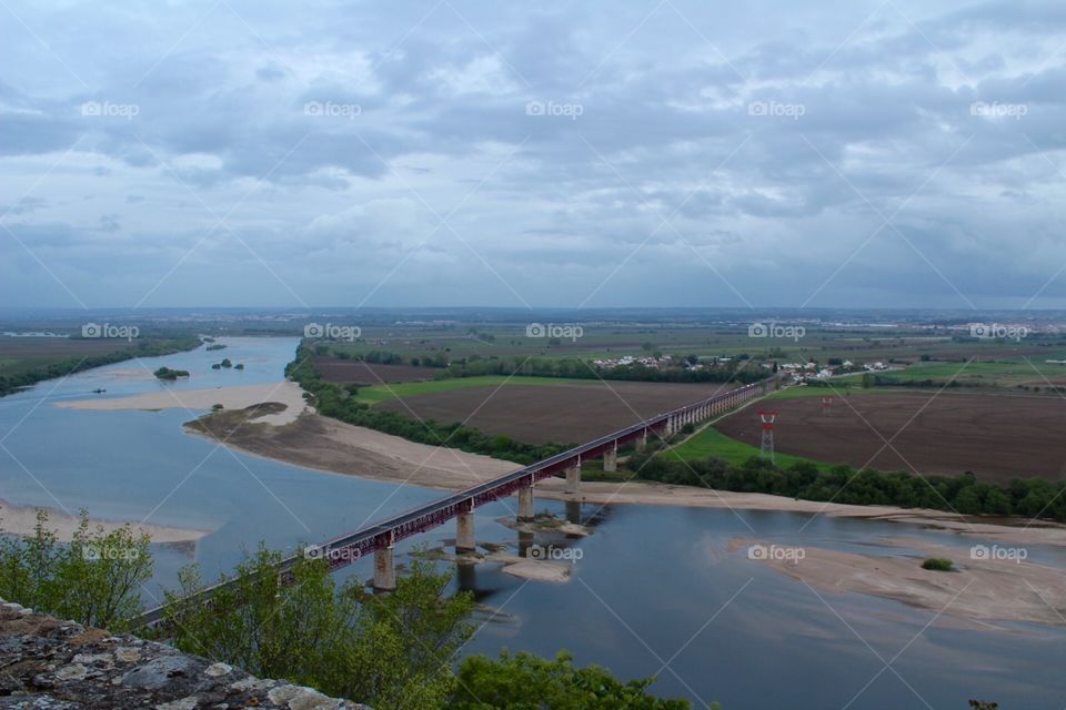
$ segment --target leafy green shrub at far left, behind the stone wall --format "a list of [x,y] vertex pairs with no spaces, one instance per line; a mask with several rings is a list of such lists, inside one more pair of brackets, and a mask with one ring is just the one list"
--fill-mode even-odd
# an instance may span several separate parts
[[88,514],[70,544],[37,515],[33,535],[0,539],[0,597],[81,623],[125,631],[140,612],[141,586],[152,577],[148,534],[130,526],[90,529]]

